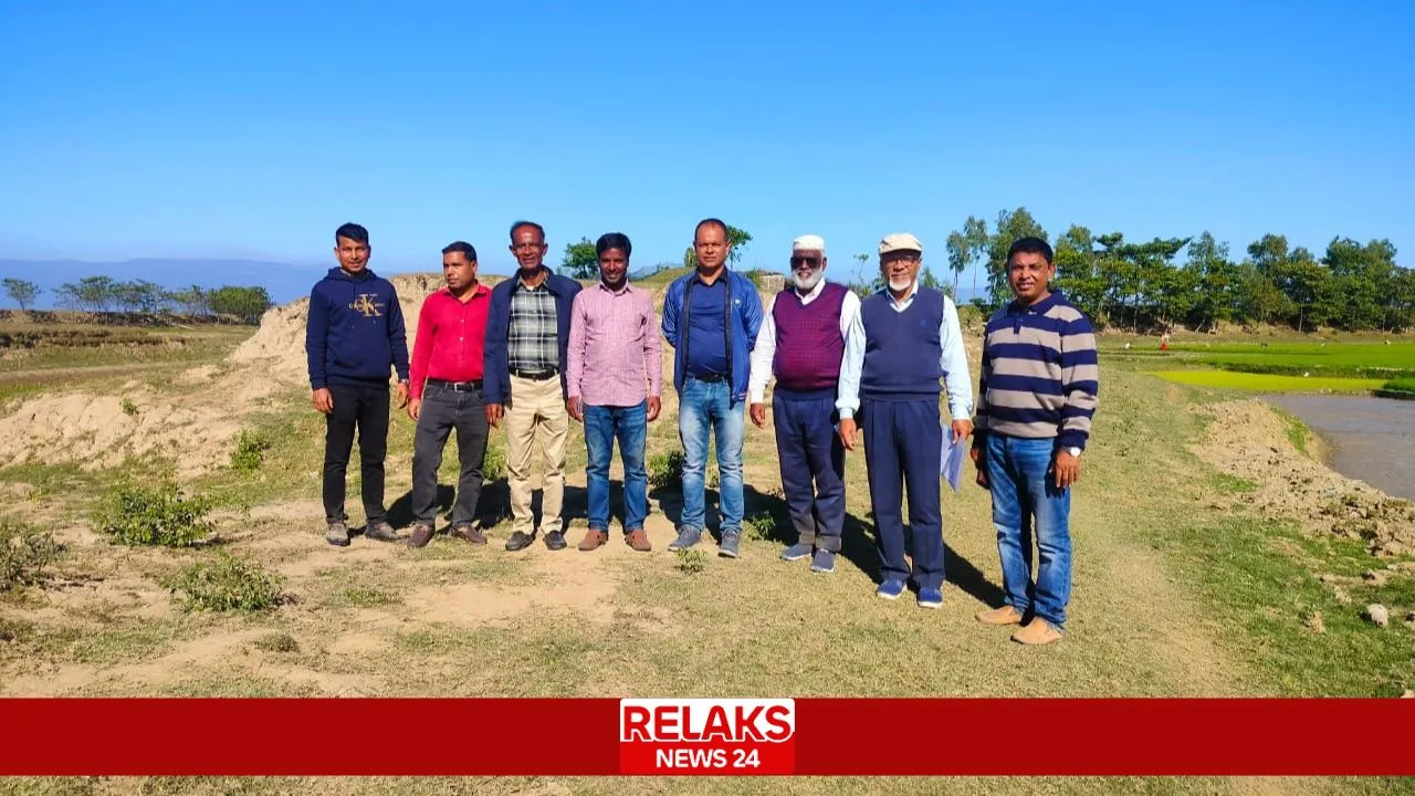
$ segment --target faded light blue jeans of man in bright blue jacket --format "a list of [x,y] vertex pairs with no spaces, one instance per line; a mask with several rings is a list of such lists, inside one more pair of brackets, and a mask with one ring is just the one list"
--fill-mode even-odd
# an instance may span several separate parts
[[705,528],[703,473],[708,470],[708,436],[717,436],[717,480],[722,533],[741,533],[741,431],[746,405],[733,402],[726,381],[688,377],[678,395],[678,435],[683,440],[683,514],[681,528]]

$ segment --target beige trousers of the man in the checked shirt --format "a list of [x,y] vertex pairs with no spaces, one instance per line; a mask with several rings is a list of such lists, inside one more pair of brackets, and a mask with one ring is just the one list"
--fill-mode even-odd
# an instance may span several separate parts
[[535,533],[535,517],[531,514],[531,452],[539,442],[545,455],[541,531],[563,531],[560,506],[565,501],[565,439],[570,433],[570,416],[560,398],[560,378],[531,381],[512,375],[505,419],[511,530]]

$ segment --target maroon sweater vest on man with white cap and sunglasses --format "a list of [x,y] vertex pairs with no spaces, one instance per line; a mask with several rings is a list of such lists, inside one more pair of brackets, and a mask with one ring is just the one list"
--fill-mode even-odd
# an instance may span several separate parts
[[841,307],[846,288],[826,282],[809,305],[801,303],[795,288],[777,293],[771,319],[777,324],[777,354],[771,363],[777,387],[792,391],[833,388],[841,381]]

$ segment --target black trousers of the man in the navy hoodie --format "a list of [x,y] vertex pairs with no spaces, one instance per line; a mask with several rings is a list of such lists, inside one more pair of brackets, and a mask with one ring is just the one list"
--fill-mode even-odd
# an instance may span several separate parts
[[345,474],[358,433],[359,480],[364,516],[368,521],[388,518],[383,508],[383,457],[388,455],[388,385],[348,387],[331,384],[334,411],[324,416],[324,517],[330,523],[348,520],[344,513]]

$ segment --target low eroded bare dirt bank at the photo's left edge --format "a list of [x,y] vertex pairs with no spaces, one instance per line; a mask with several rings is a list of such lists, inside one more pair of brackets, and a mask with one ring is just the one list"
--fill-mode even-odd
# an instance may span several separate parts
[[225,462],[239,429],[229,408],[178,406],[150,391],[40,395],[0,418],[0,466],[79,462],[98,470],[164,453],[191,474]]

